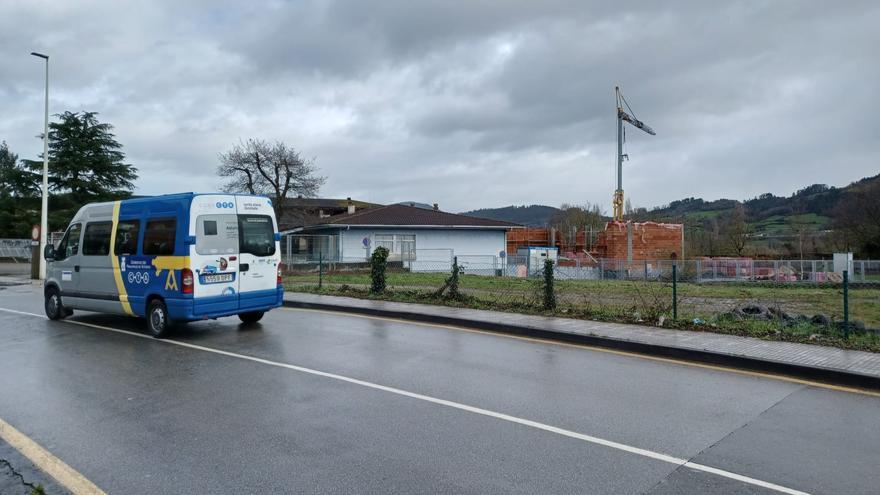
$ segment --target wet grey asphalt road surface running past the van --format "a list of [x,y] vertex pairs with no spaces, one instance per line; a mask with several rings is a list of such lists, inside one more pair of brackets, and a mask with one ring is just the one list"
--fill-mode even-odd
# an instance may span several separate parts
[[[42,314],[39,289],[0,308]],[[73,320],[143,332],[143,322]],[[276,310],[172,340],[0,311],[0,418],[108,493],[880,492],[880,398],[457,329]]]

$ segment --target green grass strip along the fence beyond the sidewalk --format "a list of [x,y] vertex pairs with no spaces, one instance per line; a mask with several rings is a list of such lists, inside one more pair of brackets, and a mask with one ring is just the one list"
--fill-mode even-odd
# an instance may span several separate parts
[[[556,316],[565,318],[575,318],[595,321],[608,321],[619,323],[634,323],[640,325],[656,326],[662,322],[664,328],[675,328],[680,330],[690,330],[699,332],[715,332],[728,335],[740,335],[746,337],[755,337],[764,340],[776,340],[785,342],[800,342],[807,344],[817,344],[834,346],[842,349],[854,349],[869,352],[880,352],[880,335],[875,332],[850,332],[849,339],[845,339],[843,331],[835,324],[832,325],[816,325],[808,321],[786,322],[779,319],[751,319],[734,320],[727,317],[726,312],[716,312],[715,314],[706,314],[705,311],[695,311],[701,306],[693,306],[688,304],[680,304],[679,317],[676,320],[671,318],[671,304],[667,304],[665,287],[663,284],[629,284],[626,281],[558,281],[557,291],[571,291],[571,287],[566,287],[566,282],[577,282],[577,289],[586,290],[587,287],[596,285],[595,291],[601,288],[603,294],[611,294],[612,301],[609,304],[591,303],[589,299],[580,301],[577,298],[560,298],[558,307],[554,310],[545,310],[541,306],[540,298],[536,294],[535,280],[527,279],[505,279],[493,277],[470,276],[462,277],[462,288],[472,289],[459,298],[445,298],[438,296],[434,287],[425,284],[425,287],[413,287],[412,275],[423,276],[423,279],[441,280],[445,274],[407,274],[408,277],[401,280],[394,279],[394,274],[389,274],[389,290],[382,294],[370,294],[367,287],[361,286],[362,278],[358,275],[348,274],[340,278],[331,278],[325,280],[325,285],[318,288],[317,285],[304,283],[304,280],[297,277],[286,279],[285,286],[287,290],[294,292],[307,292],[314,294],[336,295],[357,297],[363,299],[374,299],[395,302],[409,302],[421,304],[435,304],[450,307],[461,307],[471,309],[486,309],[494,311],[505,311],[512,313],[521,313],[529,315]],[[478,280],[483,279],[483,280]],[[340,280],[351,281],[352,284],[340,283]],[[310,280],[311,281],[311,280]],[[406,282],[403,284],[402,282]],[[510,283],[514,282],[519,290],[510,291]],[[506,287],[503,292],[497,290],[488,290],[493,283],[505,283]],[[610,284],[610,285],[609,285]],[[396,286],[396,287],[395,287]],[[497,289],[497,288],[496,288]],[[706,289],[706,290],[699,290]],[[671,291],[671,289],[669,289]],[[649,291],[646,295],[645,292]],[[741,292],[744,291],[744,292]],[[788,293],[791,291],[791,293]],[[788,303],[795,298],[796,302],[818,304],[823,298],[829,297],[828,291],[834,291],[831,288],[791,288],[786,289],[785,297]],[[506,297],[498,297],[499,293],[503,293]],[[715,287],[715,286],[698,286],[696,284],[680,284],[679,294],[682,294],[682,302],[687,301],[688,297],[712,297],[714,295],[719,299],[735,300],[735,301],[775,301],[780,300],[779,288],[765,287]],[[509,297],[515,294],[514,297]],[[699,294],[699,296],[695,296]],[[851,297],[853,291],[850,292]],[[832,294],[834,295],[834,294]],[[620,298],[618,296],[628,296]],[[838,298],[838,296],[835,297]],[[876,296],[873,296],[876,297]],[[671,298],[671,295],[670,295]],[[870,301],[872,311],[877,311],[876,302]],[[657,301],[661,301],[658,303]],[[770,304],[767,304],[768,306]],[[821,306],[821,304],[818,304]],[[777,304],[777,307],[780,307]],[[818,312],[818,311],[817,311]],[[833,314],[833,313],[832,313]]]

